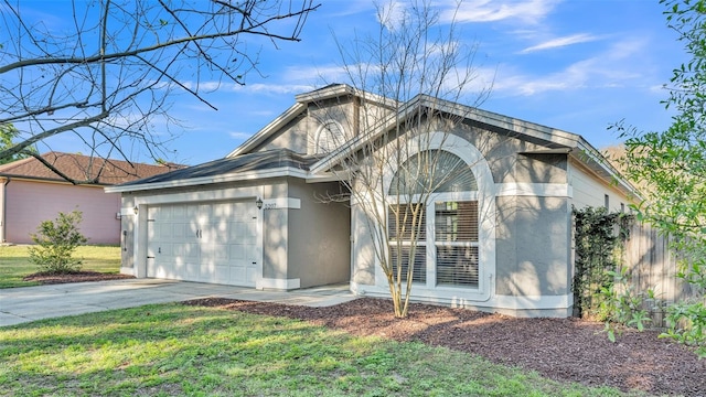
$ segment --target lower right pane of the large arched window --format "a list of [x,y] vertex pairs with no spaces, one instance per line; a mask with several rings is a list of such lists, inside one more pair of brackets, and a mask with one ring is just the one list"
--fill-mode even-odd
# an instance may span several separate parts
[[437,246],[437,285],[478,287],[478,247]]

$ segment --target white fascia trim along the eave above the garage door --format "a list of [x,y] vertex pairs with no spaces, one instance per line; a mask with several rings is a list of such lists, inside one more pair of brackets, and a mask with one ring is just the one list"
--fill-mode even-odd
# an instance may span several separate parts
[[253,181],[259,179],[267,178],[281,178],[281,176],[293,176],[306,180],[309,178],[309,172],[290,168],[290,167],[281,167],[271,170],[261,170],[261,171],[250,171],[243,173],[233,173],[225,175],[214,175],[214,176],[203,176],[203,178],[191,178],[184,180],[169,181],[169,182],[157,182],[157,183],[145,183],[137,185],[128,185],[128,186],[114,186],[106,187],[106,193],[122,193],[122,192],[137,192],[137,191],[146,191],[146,190],[154,190],[154,189],[169,189],[169,187],[184,187],[184,186],[194,186],[194,185],[204,185],[204,184],[215,184],[215,183],[226,183],[226,182],[238,182],[238,181]]

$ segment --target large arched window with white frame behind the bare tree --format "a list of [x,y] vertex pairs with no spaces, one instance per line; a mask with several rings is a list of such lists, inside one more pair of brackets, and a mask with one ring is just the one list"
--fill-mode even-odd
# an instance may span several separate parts
[[[415,202],[431,192],[431,202]],[[404,273],[414,266],[414,282],[479,288],[478,183],[469,164],[448,151],[421,151],[399,167],[388,194],[397,196],[387,208],[391,264],[402,255]]]

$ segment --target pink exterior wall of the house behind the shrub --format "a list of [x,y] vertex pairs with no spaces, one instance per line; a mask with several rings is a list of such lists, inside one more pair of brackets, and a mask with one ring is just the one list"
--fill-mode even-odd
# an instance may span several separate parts
[[81,232],[88,244],[120,244],[120,195],[98,186],[11,180],[6,186],[6,240],[31,244],[30,233],[60,212],[83,213]]

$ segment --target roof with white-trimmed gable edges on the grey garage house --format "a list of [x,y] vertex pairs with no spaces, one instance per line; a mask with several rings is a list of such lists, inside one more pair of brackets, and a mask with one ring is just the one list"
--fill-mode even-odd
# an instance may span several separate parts
[[[281,148],[263,150],[266,148],[266,142],[280,133],[288,124],[298,117],[308,115],[311,111],[309,104],[332,100],[341,96],[359,97],[361,103],[395,111],[383,114],[385,117],[376,119],[375,121],[377,122],[372,128],[359,131],[353,135],[352,139],[331,152],[321,154],[319,158],[317,155],[295,153],[292,150]],[[341,84],[298,95],[297,104],[246,140],[225,159],[171,172],[163,176],[127,183],[109,190],[148,190],[284,174],[297,175],[310,181],[331,180],[334,176],[331,175],[330,171],[344,162],[346,155],[360,151],[366,142],[376,140],[394,128],[400,118],[410,118],[420,111],[428,112],[429,110],[432,110],[431,112],[434,114],[439,112],[458,117],[467,124],[479,126],[488,131],[509,135],[533,143],[534,149],[526,153],[563,153],[569,155],[586,165],[607,183],[614,183],[627,194],[639,195],[638,191],[620,175],[598,150],[579,135],[427,95],[417,95],[406,103],[396,103]],[[274,172],[274,170],[277,170],[277,172]]]

